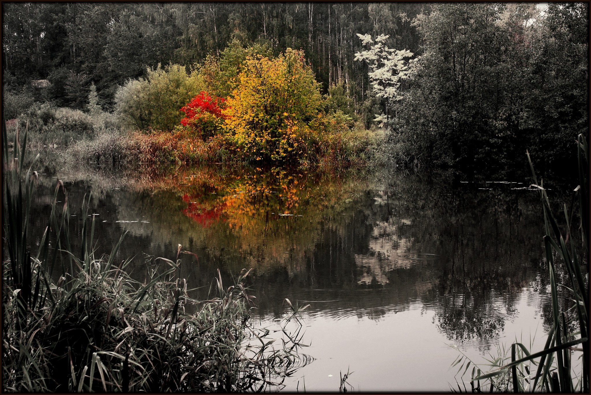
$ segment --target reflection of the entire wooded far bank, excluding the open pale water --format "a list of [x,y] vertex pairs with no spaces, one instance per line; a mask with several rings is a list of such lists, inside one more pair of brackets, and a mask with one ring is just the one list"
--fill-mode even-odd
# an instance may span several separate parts
[[[343,322],[428,310],[450,341],[487,345],[514,319],[524,289],[545,293],[537,196],[515,184],[256,168],[47,177],[64,175],[74,180],[72,213],[84,193],[95,196],[98,251],[128,231],[120,254],[137,255],[141,277],[142,254],[174,258],[182,244],[199,256],[182,267],[191,287],[203,287],[197,296],[217,268],[231,281],[252,267],[261,317],[282,316],[285,297],[310,304],[311,318]],[[40,226],[50,182],[40,186]]]

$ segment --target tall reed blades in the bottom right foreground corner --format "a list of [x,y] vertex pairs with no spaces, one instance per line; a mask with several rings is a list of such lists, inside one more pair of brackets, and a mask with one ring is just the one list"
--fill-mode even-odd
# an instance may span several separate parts
[[[453,365],[460,365],[458,373],[465,374],[473,365],[470,384],[472,392],[488,389],[502,392],[547,391],[558,393],[589,393],[589,146],[582,134],[577,138],[579,162],[579,185],[573,190],[573,201],[569,207],[563,204],[562,211],[566,229],[561,230],[557,216],[550,207],[550,199],[543,180],[538,183],[530,154],[527,158],[535,187],[540,190],[544,212],[545,261],[550,278],[553,323],[542,351],[530,352],[519,342],[511,345],[511,362],[507,350],[499,349],[498,355],[489,360],[492,371],[482,374],[480,368],[465,355],[460,355]],[[573,231],[574,213],[578,211],[582,251],[577,251],[576,233]],[[566,271],[569,286],[557,282],[557,266]],[[568,290],[573,302],[567,309],[561,308],[557,287]],[[568,302],[568,300],[567,300]],[[573,314],[574,313],[574,314]],[[579,331],[569,332],[571,324]],[[581,344],[582,348],[575,348]],[[582,370],[573,375],[571,352],[582,352]],[[539,358],[539,360],[537,359]],[[466,365],[466,368],[464,366]],[[483,383],[481,383],[483,381]],[[460,392],[462,389],[458,386]]]

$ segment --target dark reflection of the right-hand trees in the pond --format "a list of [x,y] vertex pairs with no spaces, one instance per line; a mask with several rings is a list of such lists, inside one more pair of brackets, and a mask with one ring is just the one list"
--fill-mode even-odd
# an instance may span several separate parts
[[519,293],[537,279],[543,226],[535,198],[453,180],[390,184],[389,204],[410,222],[398,224],[401,237],[439,255],[428,265],[436,286],[423,300],[433,303],[434,322],[449,339],[496,336],[514,315]]

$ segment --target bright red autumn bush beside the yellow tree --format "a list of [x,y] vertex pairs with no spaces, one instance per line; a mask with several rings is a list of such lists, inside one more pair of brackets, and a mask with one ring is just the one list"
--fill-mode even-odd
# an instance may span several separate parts
[[181,125],[188,127],[203,140],[217,134],[226,118],[222,114],[222,107],[225,99],[210,96],[203,90],[195,96],[190,103],[180,111],[186,115],[181,119]]

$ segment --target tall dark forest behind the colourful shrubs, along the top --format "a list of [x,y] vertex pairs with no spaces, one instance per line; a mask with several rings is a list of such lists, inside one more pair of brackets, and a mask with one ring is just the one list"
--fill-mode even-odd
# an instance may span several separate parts
[[[47,78],[62,66],[82,73],[96,84],[99,96],[106,101],[103,108],[110,111],[117,85],[141,77],[145,67],[200,63],[208,54],[220,57],[223,49],[239,38],[241,46],[268,43],[275,54],[288,47],[302,48],[325,89],[343,80],[356,101],[362,102],[368,77],[362,64],[351,61],[361,49],[352,37],[359,32],[379,35],[395,31],[391,45],[416,52],[420,37],[410,21],[428,8],[400,2],[6,4],[2,21],[7,50],[2,71],[3,75],[14,74],[20,85],[31,78]],[[231,92],[227,87],[223,89],[226,93],[212,86],[204,90],[222,97]],[[65,100],[63,93],[59,98]]]

